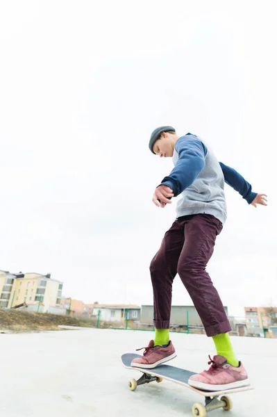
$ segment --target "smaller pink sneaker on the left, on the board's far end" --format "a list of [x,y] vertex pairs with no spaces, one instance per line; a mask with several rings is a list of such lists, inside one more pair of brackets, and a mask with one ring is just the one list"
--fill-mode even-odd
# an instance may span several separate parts
[[136,368],[155,368],[155,366],[170,361],[177,356],[171,341],[166,347],[154,347],[154,341],[150,341],[149,345],[147,347],[142,347],[142,349],[145,349],[143,357],[133,359],[131,366],[135,366]]

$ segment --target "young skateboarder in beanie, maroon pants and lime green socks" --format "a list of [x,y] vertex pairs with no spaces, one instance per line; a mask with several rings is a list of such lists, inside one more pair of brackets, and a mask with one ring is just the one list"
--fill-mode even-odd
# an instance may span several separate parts
[[210,369],[190,377],[189,384],[207,390],[243,386],[248,376],[233,351],[228,335],[230,322],[205,268],[226,221],[224,182],[255,207],[267,206],[267,196],[253,193],[238,172],[219,163],[210,147],[192,133],[180,137],[172,126],[158,127],[151,134],[149,149],[160,157],[172,157],[175,165],[156,188],[153,203],[164,208],[171,204],[171,197],[180,197],[176,220],[150,265],[155,339],[144,348],[142,358],[133,360],[132,366],[155,368],[176,357],[169,341],[169,320],[172,283],[178,273],[217,350],[208,362],[212,364]]

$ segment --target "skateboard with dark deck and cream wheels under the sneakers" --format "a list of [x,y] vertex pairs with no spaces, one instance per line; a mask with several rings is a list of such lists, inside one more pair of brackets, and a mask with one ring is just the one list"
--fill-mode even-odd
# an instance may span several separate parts
[[121,361],[124,368],[139,370],[142,373],[140,379],[130,379],[128,382],[131,391],[135,391],[138,385],[149,384],[149,382],[153,381],[162,382],[163,378],[171,382],[176,382],[176,384],[186,386],[188,389],[204,395],[205,397],[205,405],[197,402],[192,406],[192,415],[194,417],[205,417],[208,411],[212,411],[221,407],[228,411],[233,407],[233,402],[230,397],[223,394],[240,393],[242,391],[249,391],[253,389],[253,386],[249,384],[240,388],[228,389],[224,391],[203,391],[201,389],[196,389],[188,384],[189,378],[195,374],[190,370],[176,368],[176,366],[165,364],[159,365],[152,369],[135,368],[134,366],[131,366],[133,359],[140,357],[141,356],[139,354],[133,353],[126,353],[121,356]]

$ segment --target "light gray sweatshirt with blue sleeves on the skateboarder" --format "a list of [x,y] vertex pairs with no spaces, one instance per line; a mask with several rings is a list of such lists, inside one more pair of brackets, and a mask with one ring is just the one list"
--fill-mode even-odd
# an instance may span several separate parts
[[175,167],[161,184],[171,188],[174,197],[180,195],[177,218],[211,214],[224,224],[227,217],[224,181],[249,204],[257,195],[242,175],[217,161],[212,149],[192,133],[178,138],[172,159]]

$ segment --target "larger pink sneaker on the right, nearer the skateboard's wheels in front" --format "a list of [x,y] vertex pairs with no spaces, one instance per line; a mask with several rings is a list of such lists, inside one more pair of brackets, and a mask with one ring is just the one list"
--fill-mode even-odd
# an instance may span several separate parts
[[209,356],[212,366],[209,370],[192,375],[188,384],[194,388],[207,391],[223,391],[249,385],[249,379],[242,363],[236,368],[227,362],[226,357],[217,354],[213,359]]

